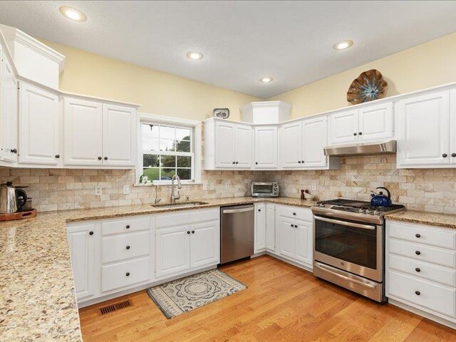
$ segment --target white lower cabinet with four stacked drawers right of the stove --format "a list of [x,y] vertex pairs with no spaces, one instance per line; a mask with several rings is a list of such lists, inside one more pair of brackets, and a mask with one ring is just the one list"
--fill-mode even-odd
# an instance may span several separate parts
[[[456,232],[386,222],[386,296],[456,328]],[[441,319],[442,318],[442,319]]]

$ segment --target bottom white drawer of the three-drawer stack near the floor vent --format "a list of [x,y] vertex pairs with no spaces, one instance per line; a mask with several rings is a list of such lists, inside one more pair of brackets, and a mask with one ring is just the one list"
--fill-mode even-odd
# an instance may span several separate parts
[[150,258],[101,267],[101,291],[107,292],[150,279]]

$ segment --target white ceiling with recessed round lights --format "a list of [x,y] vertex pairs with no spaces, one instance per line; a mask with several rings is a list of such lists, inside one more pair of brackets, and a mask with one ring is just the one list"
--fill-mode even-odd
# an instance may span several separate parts
[[[31,36],[260,98],[452,33],[455,18],[456,1],[0,1],[0,24]],[[343,39],[353,47],[334,51]]]

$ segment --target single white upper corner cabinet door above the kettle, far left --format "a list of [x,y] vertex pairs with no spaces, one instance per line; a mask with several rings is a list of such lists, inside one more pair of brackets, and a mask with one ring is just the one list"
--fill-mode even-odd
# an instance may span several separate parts
[[58,165],[58,95],[21,83],[19,91],[19,162]]

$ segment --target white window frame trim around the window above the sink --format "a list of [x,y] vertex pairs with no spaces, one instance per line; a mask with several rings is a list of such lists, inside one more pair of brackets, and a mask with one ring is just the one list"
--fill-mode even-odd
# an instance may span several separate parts
[[[192,185],[201,184],[201,172],[202,172],[202,122],[197,120],[188,120],[181,118],[170,118],[169,116],[139,113],[138,115],[138,163],[136,166],[136,185],[139,183],[140,175],[143,173],[142,164],[142,124],[151,125],[168,125],[177,126],[182,128],[190,128],[190,140],[193,144],[193,157],[192,157],[192,175],[193,180],[182,180],[182,184]],[[166,154],[166,153],[162,153]],[[173,153],[175,155],[175,153]],[[154,180],[151,185],[171,185],[170,180]]]

